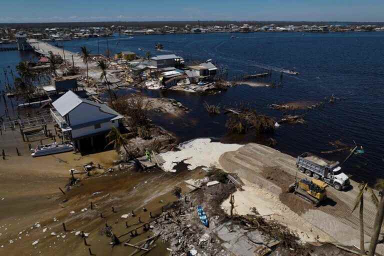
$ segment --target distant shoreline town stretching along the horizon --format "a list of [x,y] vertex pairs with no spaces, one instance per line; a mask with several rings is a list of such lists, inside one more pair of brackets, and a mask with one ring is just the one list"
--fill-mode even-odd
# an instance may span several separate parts
[[[119,24],[119,22],[106,22],[103,26],[93,26],[92,23],[43,23],[35,24],[4,24],[0,27],[0,43],[15,42],[17,32],[25,32],[28,38],[39,40],[73,40],[90,37],[105,37],[113,33],[133,35],[133,34],[174,34],[174,33],[213,33],[213,32],[365,32],[365,31],[384,31],[384,24],[265,24],[265,23],[222,23],[191,24],[170,22],[156,24]],[[53,26],[56,25],[56,26]]]

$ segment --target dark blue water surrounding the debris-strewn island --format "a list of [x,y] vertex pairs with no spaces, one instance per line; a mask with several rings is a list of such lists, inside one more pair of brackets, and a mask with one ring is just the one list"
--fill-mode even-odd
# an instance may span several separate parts
[[[230,38],[232,35],[235,38]],[[157,42],[164,45],[163,50],[154,49]],[[279,82],[281,69],[294,69],[300,74],[284,73],[279,88],[240,85],[214,95],[143,92],[154,97],[174,98],[191,109],[184,118],[153,117],[156,123],[181,140],[203,136],[228,142],[233,137],[226,136],[227,117],[210,116],[203,108],[205,101],[221,105],[245,102],[260,113],[279,118],[282,113],[269,109],[269,104],[320,101],[334,94],[341,100],[307,112],[305,124],[284,124],[277,128],[273,135],[277,140],[276,148],[292,156],[305,151],[320,154],[320,151],[334,149],[329,141],[340,139],[352,145],[354,140],[364,147],[365,153],[349,158],[342,165],[343,170],[352,175],[352,179],[371,184],[377,178],[384,178],[384,32],[169,34],[133,35],[133,38],[115,35],[108,40],[91,38],[59,43],[74,52],[85,45],[92,53],[104,53],[109,48],[112,52],[129,50],[139,55],[146,51],[151,51],[152,55],[175,53],[187,61],[212,59],[228,69],[228,79],[270,69],[272,76],[263,81]],[[17,51],[0,52],[0,67],[15,65],[28,57]],[[257,136],[236,139],[261,140]],[[342,162],[347,154],[320,155]]]

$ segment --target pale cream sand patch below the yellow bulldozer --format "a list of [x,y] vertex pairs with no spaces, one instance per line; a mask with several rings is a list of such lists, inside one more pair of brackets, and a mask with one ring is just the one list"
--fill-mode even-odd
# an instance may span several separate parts
[[[289,209],[289,207],[283,204],[275,194],[256,184],[250,183],[245,179],[241,180],[245,184],[242,187],[244,190],[236,191],[233,194],[234,213],[239,215],[252,214],[250,208],[256,207],[261,216],[268,220],[276,220],[287,226],[289,229],[296,232],[303,242],[316,240],[323,242],[334,241],[328,234]],[[223,201],[221,207],[229,214],[229,198]]]

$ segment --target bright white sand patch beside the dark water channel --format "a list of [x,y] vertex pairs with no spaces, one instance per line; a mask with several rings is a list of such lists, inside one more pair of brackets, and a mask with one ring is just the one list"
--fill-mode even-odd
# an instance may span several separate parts
[[173,167],[180,161],[189,164],[188,169],[192,170],[198,166],[214,165],[221,168],[218,158],[221,154],[228,151],[235,151],[242,145],[223,144],[220,142],[211,142],[210,138],[197,138],[179,145],[180,151],[168,151],[160,154],[165,161],[162,167],[166,171],[175,172]]

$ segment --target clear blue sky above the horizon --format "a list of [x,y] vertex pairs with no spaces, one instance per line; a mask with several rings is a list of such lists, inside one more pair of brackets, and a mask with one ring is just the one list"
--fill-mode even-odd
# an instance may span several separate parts
[[0,0],[0,23],[384,21],[384,0]]

